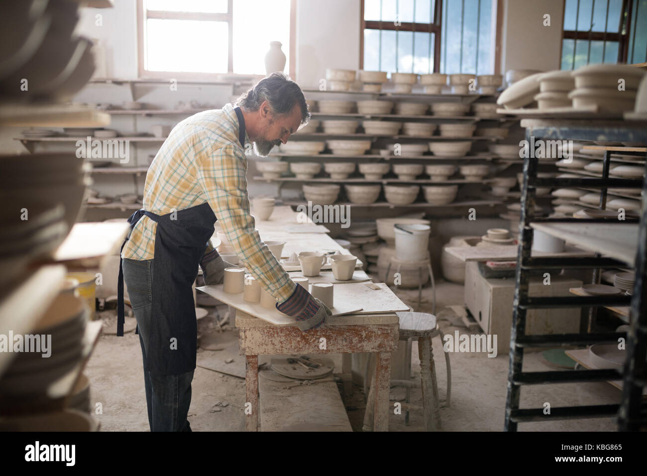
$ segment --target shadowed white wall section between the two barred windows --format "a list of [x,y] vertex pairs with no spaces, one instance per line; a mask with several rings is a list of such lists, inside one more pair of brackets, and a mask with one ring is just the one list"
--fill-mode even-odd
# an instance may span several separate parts
[[[504,0],[501,71],[560,69],[564,0]],[[551,26],[543,26],[543,16]]]

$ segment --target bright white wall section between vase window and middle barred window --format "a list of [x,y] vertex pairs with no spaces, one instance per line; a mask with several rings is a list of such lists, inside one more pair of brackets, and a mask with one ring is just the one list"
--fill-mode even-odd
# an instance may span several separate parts
[[297,0],[296,81],[318,87],[326,68],[359,65],[360,1]]

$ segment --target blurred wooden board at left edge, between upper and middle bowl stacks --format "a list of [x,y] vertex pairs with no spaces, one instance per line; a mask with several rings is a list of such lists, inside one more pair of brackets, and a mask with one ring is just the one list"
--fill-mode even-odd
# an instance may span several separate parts
[[0,106],[4,127],[104,127],[110,115],[78,104],[5,104]]

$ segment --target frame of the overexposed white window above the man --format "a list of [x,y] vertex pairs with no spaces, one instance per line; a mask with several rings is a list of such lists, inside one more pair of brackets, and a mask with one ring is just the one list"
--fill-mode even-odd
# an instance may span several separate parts
[[[152,13],[152,14],[151,14]],[[144,42],[146,41],[146,20],[148,18],[179,19],[179,20],[211,20],[223,21],[228,24],[228,52],[226,73],[203,73],[199,71],[149,71],[144,65]],[[294,79],[296,69],[296,0],[290,0],[290,62],[286,65],[289,75]],[[232,79],[257,78],[258,74],[234,73],[234,0],[227,0],[227,13],[202,12],[168,12],[166,10],[146,10],[144,0],[137,0],[137,75],[139,79],[177,79],[194,81],[225,81]],[[285,71],[285,70],[284,70]]]

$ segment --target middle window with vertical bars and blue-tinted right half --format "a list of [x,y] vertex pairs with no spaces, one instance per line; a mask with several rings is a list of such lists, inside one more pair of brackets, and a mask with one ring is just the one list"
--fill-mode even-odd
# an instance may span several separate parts
[[494,73],[496,0],[363,0],[362,69]]

